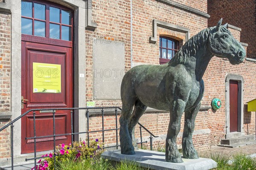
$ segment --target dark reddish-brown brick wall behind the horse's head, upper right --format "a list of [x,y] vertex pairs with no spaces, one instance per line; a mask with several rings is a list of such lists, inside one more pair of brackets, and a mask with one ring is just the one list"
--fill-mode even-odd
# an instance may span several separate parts
[[222,17],[242,29],[241,42],[247,43],[247,57],[256,58],[256,0],[208,0],[208,26],[214,26]]

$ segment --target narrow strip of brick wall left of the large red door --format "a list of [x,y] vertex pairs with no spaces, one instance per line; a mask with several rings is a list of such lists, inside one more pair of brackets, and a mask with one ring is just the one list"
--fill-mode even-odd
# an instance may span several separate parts
[[[0,116],[11,111],[11,14],[0,11]],[[0,127],[9,123],[0,119]],[[10,156],[10,128],[0,132],[0,158]]]

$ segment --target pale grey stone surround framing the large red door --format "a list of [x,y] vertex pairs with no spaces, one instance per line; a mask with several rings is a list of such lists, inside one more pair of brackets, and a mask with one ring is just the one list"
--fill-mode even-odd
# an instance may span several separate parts
[[[17,0],[17,4],[20,3],[21,0]],[[57,1],[55,1],[57,2]],[[74,79],[74,91],[73,91],[73,101],[74,107],[84,107],[86,105],[85,99],[85,77],[79,77],[79,74],[86,73],[86,40],[85,40],[85,29],[89,24],[91,24],[91,20],[88,20],[88,23],[85,23],[85,18],[91,17],[91,11],[86,13],[88,10],[85,1],[70,1],[70,0],[59,0],[59,4],[67,6],[74,11],[74,24],[73,24],[73,43],[76,44],[73,47],[73,79]],[[90,15],[89,15],[90,14]],[[21,114],[21,10],[20,8],[12,8],[12,96],[11,96],[11,107],[12,107],[12,119],[17,118]],[[82,64],[81,64],[82,63]],[[80,95],[79,95],[80,94]],[[83,112],[83,111],[82,111]],[[84,124],[84,120],[86,119],[85,114],[80,114],[75,117],[76,129],[84,130],[86,126],[79,127],[80,124]],[[21,121],[17,121],[14,126],[14,157],[20,157],[21,155]],[[84,130],[85,131],[85,130]],[[85,136],[85,135],[84,135]],[[80,137],[80,136],[79,136]],[[82,137],[82,136],[81,136]]]

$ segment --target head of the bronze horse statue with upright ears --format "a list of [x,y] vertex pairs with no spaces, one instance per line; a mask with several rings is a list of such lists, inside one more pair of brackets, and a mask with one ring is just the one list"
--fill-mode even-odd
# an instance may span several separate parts
[[227,29],[227,24],[221,26],[222,18],[217,26],[213,27],[208,37],[208,48],[213,55],[227,58],[231,64],[236,65],[244,61],[245,50]]

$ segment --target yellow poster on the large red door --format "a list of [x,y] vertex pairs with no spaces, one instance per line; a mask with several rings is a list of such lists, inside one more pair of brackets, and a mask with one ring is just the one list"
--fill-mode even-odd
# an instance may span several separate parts
[[33,93],[61,93],[61,65],[33,62]]

